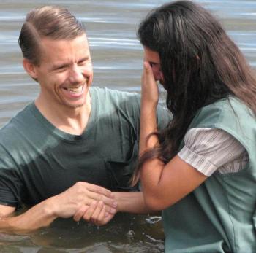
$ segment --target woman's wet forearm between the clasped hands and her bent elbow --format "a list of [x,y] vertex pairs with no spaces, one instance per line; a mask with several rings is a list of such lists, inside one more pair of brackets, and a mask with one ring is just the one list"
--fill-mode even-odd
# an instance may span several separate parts
[[133,214],[152,214],[155,211],[145,205],[143,192],[113,192],[118,203],[117,211]]

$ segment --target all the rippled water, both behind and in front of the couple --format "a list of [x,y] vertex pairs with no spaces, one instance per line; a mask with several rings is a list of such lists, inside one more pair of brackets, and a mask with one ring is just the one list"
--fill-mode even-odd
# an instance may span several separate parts
[[[0,2],[0,127],[39,93],[23,71],[18,35],[33,7],[57,4],[86,24],[94,63],[94,85],[140,92],[143,50],[136,28],[146,12],[165,0]],[[201,0],[223,23],[251,66],[256,66],[256,1]],[[163,252],[159,217],[118,214],[96,227],[70,219],[28,235],[0,233],[1,252]]]

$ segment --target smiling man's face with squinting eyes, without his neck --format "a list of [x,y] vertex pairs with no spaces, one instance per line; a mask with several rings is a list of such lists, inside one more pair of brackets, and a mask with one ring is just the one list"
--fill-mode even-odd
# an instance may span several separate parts
[[77,108],[86,104],[93,70],[86,35],[70,40],[41,39],[35,78],[41,101]]

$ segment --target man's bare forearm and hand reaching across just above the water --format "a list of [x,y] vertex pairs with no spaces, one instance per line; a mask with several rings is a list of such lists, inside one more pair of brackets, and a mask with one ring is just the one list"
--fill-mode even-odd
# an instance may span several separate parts
[[103,187],[86,182],[78,182],[59,195],[48,198],[28,211],[18,216],[11,216],[15,208],[0,205],[0,230],[2,231],[27,231],[50,225],[54,219],[73,217],[83,206],[102,201],[105,211],[116,213],[116,201],[112,192]]

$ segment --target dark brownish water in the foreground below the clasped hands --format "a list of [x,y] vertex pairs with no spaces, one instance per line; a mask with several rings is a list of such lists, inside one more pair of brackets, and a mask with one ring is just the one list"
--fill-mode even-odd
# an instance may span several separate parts
[[29,235],[0,234],[0,252],[163,252],[163,233],[155,217],[118,214],[105,227],[71,219]]

